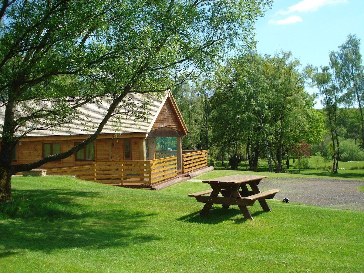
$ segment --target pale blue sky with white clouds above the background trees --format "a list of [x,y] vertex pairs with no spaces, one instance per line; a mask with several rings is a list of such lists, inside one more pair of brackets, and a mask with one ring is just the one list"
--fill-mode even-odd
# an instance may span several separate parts
[[361,39],[364,56],[364,0],[275,0],[256,23],[257,51],[292,51],[302,67],[327,66],[329,51],[350,33]]

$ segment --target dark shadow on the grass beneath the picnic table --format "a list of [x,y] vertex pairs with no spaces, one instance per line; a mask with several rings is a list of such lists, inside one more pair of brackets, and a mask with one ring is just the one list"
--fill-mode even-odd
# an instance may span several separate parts
[[[264,211],[250,211],[253,218],[257,215],[264,213]],[[250,221],[249,219],[245,219],[244,216],[241,214],[240,209],[230,207],[229,209],[222,208],[222,207],[212,207],[209,213],[205,215],[200,215],[200,211],[190,213],[186,216],[178,218],[180,221],[191,222],[191,223],[204,223],[204,224],[211,224],[216,225],[223,221],[233,221],[234,223],[244,223],[246,221]]]

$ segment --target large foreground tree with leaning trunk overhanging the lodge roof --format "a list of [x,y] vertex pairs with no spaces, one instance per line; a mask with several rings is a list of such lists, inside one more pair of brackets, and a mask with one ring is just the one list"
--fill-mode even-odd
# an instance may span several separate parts
[[[82,149],[128,92],[166,90],[211,70],[226,52],[253,44],[254,23],[271,0],[12,0],[0,7],[0,99],[5,108],[0,199],[10,176]],[[67,122],[81,105],[107,97],[104,120],[85,141],[29,165],[11,165],[20,128]],[[72,98],[72,99],[70,99]],[[48,108],[28,107],[46,101]]]

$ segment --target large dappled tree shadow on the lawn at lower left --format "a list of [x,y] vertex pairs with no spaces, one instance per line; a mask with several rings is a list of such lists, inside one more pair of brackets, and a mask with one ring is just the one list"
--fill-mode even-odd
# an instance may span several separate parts
[[[46,253],[71,248],[103,249],[160,239],[153,234],[136,232],[153,214],[107,210],[105,204],[99,209],[97,204],[87,206],[75,202],[76,198],[99,195],[66,189],[14,190],[16,201],[10,206],[17,206],[17,211],[0,224],[0,257],[24,249]],[[1,209],[4,207],[0,207],[4,215]]]

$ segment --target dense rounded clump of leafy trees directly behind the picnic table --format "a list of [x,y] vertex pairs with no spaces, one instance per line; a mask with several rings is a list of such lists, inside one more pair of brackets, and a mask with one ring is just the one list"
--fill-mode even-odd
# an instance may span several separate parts
[[212,142],[225,153],[249,153],[251,168],[262,150],[270,150],[278,169],[294,143],[319,142],[323,116],[312,109],[314,96],[304,91],[299,66],[291,52],[229,59],[214,78]]

